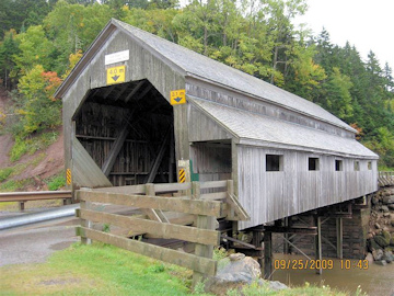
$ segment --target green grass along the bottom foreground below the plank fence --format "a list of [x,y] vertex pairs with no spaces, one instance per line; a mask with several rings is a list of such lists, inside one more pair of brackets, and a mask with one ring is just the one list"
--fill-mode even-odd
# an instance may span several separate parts
[[[56,252],[46,263],[0,267],[1,295],[190,295],[192,271],[119,248],[95,242],[72,244]],[[194,295],[205,294],[200,284]],[[254,283],[228,296],[349,295],[316,287],[274,292]],[[360,295],[356,293],[355,295]]]

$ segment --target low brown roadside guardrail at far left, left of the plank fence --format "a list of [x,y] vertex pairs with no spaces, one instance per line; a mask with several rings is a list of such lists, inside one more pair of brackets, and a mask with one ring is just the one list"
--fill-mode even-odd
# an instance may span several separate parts
[[3,192],[0,193],[0,202],[19,202],[20,209],[24,209],[24,203],[28,201],[63,200],[63,205],[72,200],[71,191],[35,191],[35,192]]

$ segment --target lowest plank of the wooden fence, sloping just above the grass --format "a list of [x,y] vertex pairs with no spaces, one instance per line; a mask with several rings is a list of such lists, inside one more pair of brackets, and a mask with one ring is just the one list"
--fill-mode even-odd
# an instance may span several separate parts
[[149,244],[138,240],[131,240],[85,227],[81,227],[80,232],[90,239],[109,243],[149,258],[154,258],[157,260],[176,264],[207,275],[216,274],[217,261],[212,259],[200,258],[194,254],[165,249],[159,246]]

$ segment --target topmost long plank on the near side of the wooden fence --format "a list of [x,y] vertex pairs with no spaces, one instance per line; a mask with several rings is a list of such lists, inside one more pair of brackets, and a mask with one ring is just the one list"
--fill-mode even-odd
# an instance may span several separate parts
[[141,208],[181,212],[186,214],[221,217],[227,206],[215,201],[192,201],[179,197],[158,197],[149,195],[130,195],[109,192],[77,191],[77,196],[85,202],[115,204]]

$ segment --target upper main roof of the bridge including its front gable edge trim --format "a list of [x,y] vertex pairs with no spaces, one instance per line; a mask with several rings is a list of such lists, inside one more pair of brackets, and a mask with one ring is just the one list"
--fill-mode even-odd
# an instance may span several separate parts
[[105,43],[108,36],[117,29],[129,35],[132,39],[138,41],[147,50],[161,57],[164,62],[167,62],[186,78],[194,77],[209,81],[219,87],[251,95],[258,100],[292,110],[297,113],[356,133],[352,127],[329,112],[301,96],[115,19],[109,21],[86,50],[80,62],[57,90],[56,96],[61,98],[67,88],[78,78],[79,71],[82,70],[91,58],[100,50],[100,45]]

